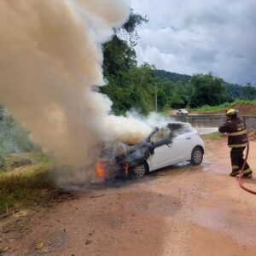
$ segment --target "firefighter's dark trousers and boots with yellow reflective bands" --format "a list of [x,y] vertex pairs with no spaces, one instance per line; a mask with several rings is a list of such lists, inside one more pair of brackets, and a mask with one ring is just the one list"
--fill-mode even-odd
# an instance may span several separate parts
[[[230,151],[230,159],[232,164],[232,174],[239,174],[241,167],[244,163],[243,158],[243,151],[246,147],[242,148],[232,148]],[[246,177],[247,175],[252,174],[252,169],[250,166],[246,163],[243,171],[243,176]]]

